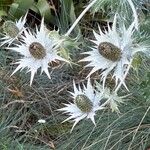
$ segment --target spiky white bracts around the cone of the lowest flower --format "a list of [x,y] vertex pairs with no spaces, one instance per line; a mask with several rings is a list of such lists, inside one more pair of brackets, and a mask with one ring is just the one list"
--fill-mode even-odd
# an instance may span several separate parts
[[[90,118],[93,124],[95,125],[95,119],[94,119],[94,116],[96,114],[95,112],[97,110],[103,109],[103,107],[100,106],[101,94],[99,92],[94,91],[90,83],[90,79],[88,79],[87,87],[83,84],[83,89],[81,88],[80,85],[76,86],[75,82],[73,82],[73,87],[74,87],[74,92],[70,92],[70,93],[74,99],[74,103],[64,104],[65,107],[59,109],[60,111],[64,111],[64,113],[67,113],[70,116],[66,120],[64,120],[64,122],[68,120],[74,121],[71,131],[73,130],[75,125],[84,118]],[[78,108],[78,106],[75,103],[75,99],[78,95],[85,95],[91,101],[93,106],[90,112],[83,112],[81,111],[81,109]]]

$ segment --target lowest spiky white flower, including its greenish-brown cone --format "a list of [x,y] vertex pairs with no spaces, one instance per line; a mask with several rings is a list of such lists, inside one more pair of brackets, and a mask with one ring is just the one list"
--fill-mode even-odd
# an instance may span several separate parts
[[83,89],[81,89],[80,85],[77,87],[74,82],[73,87],[74,92],[70,93],[74,99],[74,102],[64,104],[65,107],[59,109],[70,116],[63,122],[68,120],[74,121],[71,131],[75,125],[84,118],[90,118],[95,125],[95,112],[103,109],[103,107],[100,106],[101,94],[94,90],[90,83],[90,79],[87,81],[87,87],[83,84]]

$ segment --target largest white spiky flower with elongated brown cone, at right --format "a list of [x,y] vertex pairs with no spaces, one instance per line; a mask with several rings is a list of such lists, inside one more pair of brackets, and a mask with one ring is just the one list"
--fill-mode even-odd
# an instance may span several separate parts
[[93,68],[87,77],[101,70],[101,80],[104,86],[107,75],[113,71],[116,86],[120,82],[120,84],[126,87],[125,77],[129,71],[133,56],[136,52],[143,51],[144,47],[134,42],[133,33],[135,31],[135,22],[128,28],[126,28],[125,25],[121,28],[117,28],[116,20],[117,17],[115,15],[112,29],[108,25],[108,31],[103,32],[100,27],[100,34],[93,31],[96,38],[93,42],[96,46],[91,48],[92,51],[84,52],[83,54],[89,56],[80,61],[89,62],[85,67]]

